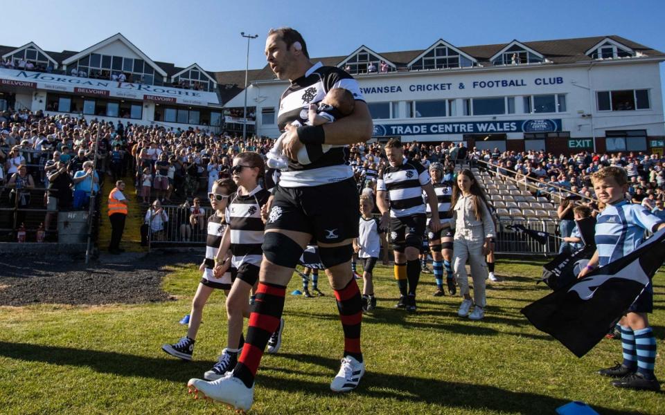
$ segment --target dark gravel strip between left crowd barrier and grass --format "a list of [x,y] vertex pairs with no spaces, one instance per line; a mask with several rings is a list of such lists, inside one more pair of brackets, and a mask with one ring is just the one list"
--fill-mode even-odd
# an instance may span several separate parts
[[147,256],[103,255],[88,266],[80,257],[0,255],[0,306],[168,301],[173,297],[161,289],[164,266],[191,263],[197,260],[197,254],[157,250]]

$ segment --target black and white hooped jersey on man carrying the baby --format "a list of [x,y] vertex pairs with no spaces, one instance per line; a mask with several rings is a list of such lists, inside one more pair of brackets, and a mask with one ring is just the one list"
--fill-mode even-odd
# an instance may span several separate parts
[[[286,124],[308,121],[310,104],[321,102],[333,88],[351,92],[356,100],[364,101],[358,83],[351,75],[335,66],[312,66],[302,77],[294,80],[284,91],[279,102],[277,125],[284,131]],[[283,187],[319,186],[353,177],[353,169],[346,164],[345,146],[334,146],[321,154],[314,162],[301,165],[289,160],[289,167],[282,172]]]

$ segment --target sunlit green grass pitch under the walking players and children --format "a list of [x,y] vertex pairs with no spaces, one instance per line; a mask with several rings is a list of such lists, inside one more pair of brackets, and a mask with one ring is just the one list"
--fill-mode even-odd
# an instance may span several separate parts
[[[499,259],[482,322],[456,316],[459,298],[431,297],[423,274],[418,313],[392,309],[397,288],[391,268],[378,266],[378,309],[363,320],[367,373],[351,394],[329,389],[339,369],[342,329],[332,290],[305,299],[287,294],[280,353],[265,356],[255,389],[256,414],[553,414],[583,400],[601,414],[665,413],[665,396],[620,390],[594,374],[621,358],[618,340],[603,340],[578,359],[533,328],[520,308],[549,293],[540,261]],[[190,377],[201,377],[224,347],[224,296],[204,312],[195,361],[166,356],[160,346],[184,335],[198,280],[191,264],[174,266],[164,289],[177,301],[159,304],[0,308],[0,412],[3,414],[224,414],[220,405],[193,400]],[[655,291],[665,291],[663,274]],[[294,277],[288,292],[300,288]],[[665,302],[655,297],[660,350]],[[661,356],[657,376],[665,378]]]

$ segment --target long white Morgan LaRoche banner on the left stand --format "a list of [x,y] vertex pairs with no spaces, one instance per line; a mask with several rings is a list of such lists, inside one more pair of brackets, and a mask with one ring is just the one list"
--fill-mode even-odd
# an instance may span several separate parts
[[145,95],[149,95],[152,97],[150,101],[157,101],[160,98],[170,98],[170,100],[159,102],[199,105],[202,107],[206,107],[208,104],[220,103],[217,94],[214,92],[193,91],[191,89],[179,89],[172,86],[97,80],[85,77],[56,75],[53,73],[17,71],[6,68],[0,68],[0,84],[134,100],[144,100]]

